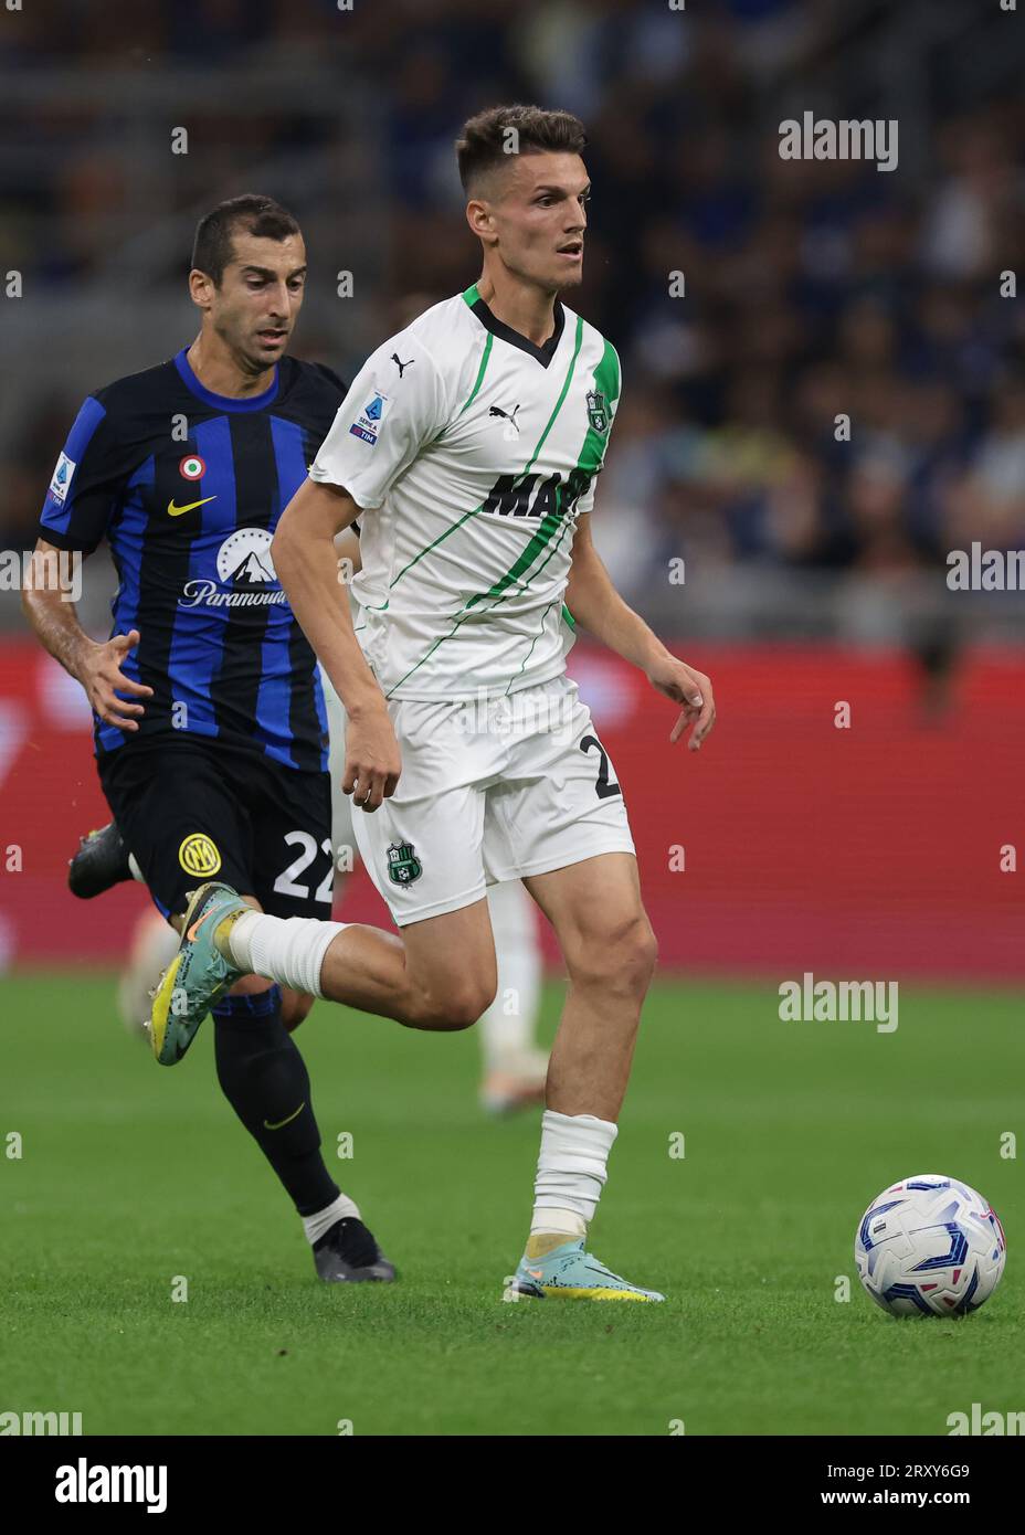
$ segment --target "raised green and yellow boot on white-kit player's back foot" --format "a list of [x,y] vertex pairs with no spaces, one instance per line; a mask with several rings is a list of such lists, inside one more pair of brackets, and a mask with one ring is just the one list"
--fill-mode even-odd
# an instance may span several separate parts
[[150,1042],[161,1065],[176,1065],[215,1002],[246,972],[238,970],[213,942],[219,923],[252,907],[230,884],[216,880],[192,890],[178,953],[153,989]]

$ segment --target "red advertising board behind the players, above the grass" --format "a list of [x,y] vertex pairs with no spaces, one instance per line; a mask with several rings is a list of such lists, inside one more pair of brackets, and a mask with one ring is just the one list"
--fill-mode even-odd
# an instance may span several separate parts
[[[1025,872],[1011,869],[1025,855],[1025,659],[973,652],[938,714],[901,654],[683,654],[720,708],[697,755],[669,744],[674,706],[640,674],[583,643],[569,657],[626,794],[663,967],[1025,976]],[[8,640],[0,961],[124,952],[143,892],[81,903],[64,884],[78,835],[106,820],[80,688],[31,640]],[[341,915],[388,921],[365,873]]]

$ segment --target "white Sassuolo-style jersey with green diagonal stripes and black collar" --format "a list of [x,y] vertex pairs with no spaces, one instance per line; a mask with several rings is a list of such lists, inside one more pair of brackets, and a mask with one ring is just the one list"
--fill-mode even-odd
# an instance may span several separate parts
[[574,531],[618,394],[594,325],[557,302],[536,347],[476,286],[374,352],[310,476],[365,511],[356,632],[387,698],[499,695],[565,671]]

